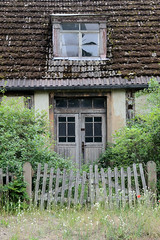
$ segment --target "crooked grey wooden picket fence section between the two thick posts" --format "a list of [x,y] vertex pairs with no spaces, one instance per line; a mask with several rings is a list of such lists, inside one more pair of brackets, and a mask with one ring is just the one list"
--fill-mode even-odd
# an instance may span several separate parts
[[[148,171],[153,173],[155,163],[151,162],[149,166]],[[48,169],[47,164],[42,171],[41,164],[38,164],[34,203],[41,209],[49,208],[51,204],[67,204],[70,207],[72,204],[93,205],[96,202],[104,202],[109,207],[131,206],[137,196],[148,189],[145,175],[142,164],[133,164],[126,171],[123,167],[120,170],[108,168],[106,172],[103,168],[99,171],[95,165],[94,168],[89,167],[89,173],[84,171],[82,174],[72,170],[67,173],[65,169],[63,172],[57,169],[55,173],[53,168]],[[152,175],[147,173],[150,181],[153,180]]]

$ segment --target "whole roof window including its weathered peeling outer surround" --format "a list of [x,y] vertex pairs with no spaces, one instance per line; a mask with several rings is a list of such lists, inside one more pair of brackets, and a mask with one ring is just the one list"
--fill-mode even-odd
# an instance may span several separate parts
[[106,59],[106,16],[51,14],[54,59]]

